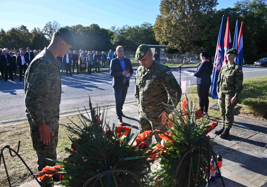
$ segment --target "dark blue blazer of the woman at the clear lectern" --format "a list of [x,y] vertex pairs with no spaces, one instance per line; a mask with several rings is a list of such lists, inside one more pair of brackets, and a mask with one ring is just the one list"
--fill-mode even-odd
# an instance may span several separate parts
[[196,78],[196,84],[211,85],[211,75],[213,70],[212,62],[203,61],[198,65],[198,68],[194,75]]

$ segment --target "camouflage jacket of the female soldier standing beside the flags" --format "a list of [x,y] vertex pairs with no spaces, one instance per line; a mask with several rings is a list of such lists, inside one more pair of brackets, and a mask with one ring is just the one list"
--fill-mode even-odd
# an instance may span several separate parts
[[217,92],[223,91],[225,93],[234,92],[238,97],[239,93],[243,91],[243,72],[242,68],[234,63],[230,68],[228,64],[222,66],[218,81]]

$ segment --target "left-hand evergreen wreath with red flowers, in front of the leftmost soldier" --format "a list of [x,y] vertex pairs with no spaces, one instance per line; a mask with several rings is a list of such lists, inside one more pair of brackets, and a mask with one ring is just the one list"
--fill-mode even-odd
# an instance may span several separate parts
[[[104,122],[105,110],[101,115],[100,109],[98,111],[92,108],[91,101],[89,106],[91,117],[81,119],[83,127],[73,123],[71,119],[69,120],[74,127],[65,125],[69,130],[72,150],[66,148],[70,155],[63,161],[53,160],[63,168],[43,171],[39,175],[63,174],[65,181],[61,181],[61,184],[64,186],[87,186],[92,185],[95,180],[96,186],[100,186],[100,181],[104,186],[108,186],[108,181],[111,186],[115,186],[115,183],[118,186],[144,186],[146,175],[150,173],[150,164],[154,161],[147,158],[152,156],[155,151],[152,147],[157,144],[152,143],[144,149],[138,149],[143,140],[134,145],[136,137],[133,138],[131,128],[116,127],[114,123],[111,128]],[[89,116],[89,113],[87,114]],[[86,121],[89,121],[89,124]],[[153,133],[155,131],[151,131],[146,138],[151,138]],[[108,176],[108,172],[115,176]]]

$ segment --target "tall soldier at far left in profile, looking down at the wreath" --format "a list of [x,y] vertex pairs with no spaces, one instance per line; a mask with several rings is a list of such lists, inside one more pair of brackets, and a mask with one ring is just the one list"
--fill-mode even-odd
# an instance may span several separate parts
[[[38,171],[55,165],[46,158],[57,159],[61,79],[56,57],[69,52],[74,44],[73,34],[66,28],[58,28],[50,45],[32,60],[25,74],[26,117],[37,153]],[[42,186],[51,186],[49,181],[52,181],[51,177],[45,177]]]

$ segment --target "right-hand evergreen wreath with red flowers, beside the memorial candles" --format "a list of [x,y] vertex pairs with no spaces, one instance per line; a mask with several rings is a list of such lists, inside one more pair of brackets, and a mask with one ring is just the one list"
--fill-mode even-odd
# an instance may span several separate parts
[[[167,105],[166,105],[167,106]],[[203,186],[206,180],[205,168],[211,158],[206,140],[206,121],[196,119],[195,104],[188,104],[187,97],[183,107],[171,107],[175,115],[169,118],[168,132],[173,141],[165,141],[167,151],[161,154],[159,175],[156,186]]]

